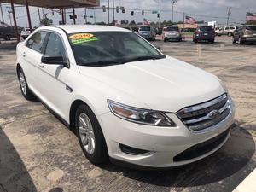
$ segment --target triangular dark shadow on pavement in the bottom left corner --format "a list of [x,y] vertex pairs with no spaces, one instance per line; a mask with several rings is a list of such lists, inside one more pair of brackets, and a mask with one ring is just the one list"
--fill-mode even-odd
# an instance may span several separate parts
[[34,192],[37,191],[26,166],[20,159],[9,138],[0,127],[0,191]]

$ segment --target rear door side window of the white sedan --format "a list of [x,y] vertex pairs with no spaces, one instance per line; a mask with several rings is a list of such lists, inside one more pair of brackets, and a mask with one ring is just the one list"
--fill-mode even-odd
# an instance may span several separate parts
[[39,53],[42,52],[44,39],[47,35],[47,32],[37,32],[35,33],[28,41],[26,46],[30,49],[36,50]]

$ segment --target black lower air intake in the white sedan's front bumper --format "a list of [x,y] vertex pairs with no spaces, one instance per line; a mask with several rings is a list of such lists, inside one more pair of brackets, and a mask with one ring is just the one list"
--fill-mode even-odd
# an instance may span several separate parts
[[183,161],[183,160],[192,160],[197,157],[200,157],[201,155],[207,154],[210,151],[212,151],[214,148],[218,148],[218,146],[224,142],[224,140],[228,137],[228,134],[230,132],[230,129],[227,131],[224,131],[224,133],[220,134],[218,137],[213,137],[212,139],[204,142],[194,145],[191,148],[188,148],[187,150],[183,151],[181,154],[177,154],[173,158],[175,162]]

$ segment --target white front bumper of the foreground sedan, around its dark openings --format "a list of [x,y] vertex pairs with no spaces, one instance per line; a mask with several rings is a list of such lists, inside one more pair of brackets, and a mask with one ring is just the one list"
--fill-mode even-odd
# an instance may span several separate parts
[[[138,125],[124,119],[119,119],[113,113],[105,113],[101,116],[102,131],[108,145],[108,154],[111,159],[124,161],[126,163],[147,166],[153,168],[167,168],[173,166],[183,166],[196,160],[201,160],[221,148],[230,137],[230,126],[234,123],[234,108],[231,113],[214,129],[193,132],[177,118],[175,113],[167,115],[176,123],[177,127],[154,127],[148,125]],[[205,143],[214,137],[218,137],[227,131],[217,146],[199,156],[190,159],[177,160],[178,155],[189,148],[193,148],[200,143]],[[138,148],[147,151],[143,154],[124,153],[119,144]]]

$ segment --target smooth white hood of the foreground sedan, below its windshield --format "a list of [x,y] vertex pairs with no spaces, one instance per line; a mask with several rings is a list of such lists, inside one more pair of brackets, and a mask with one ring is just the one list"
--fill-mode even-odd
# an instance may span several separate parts
[[[131,97],[127,100],[115,91],[108,99],[126,105],[143,103],[150,109],[172,113],[225,92],[216,76],[169,56],[109,67],[80,66],[79,71]],[[135,102],[126,103],[131,99]]]

